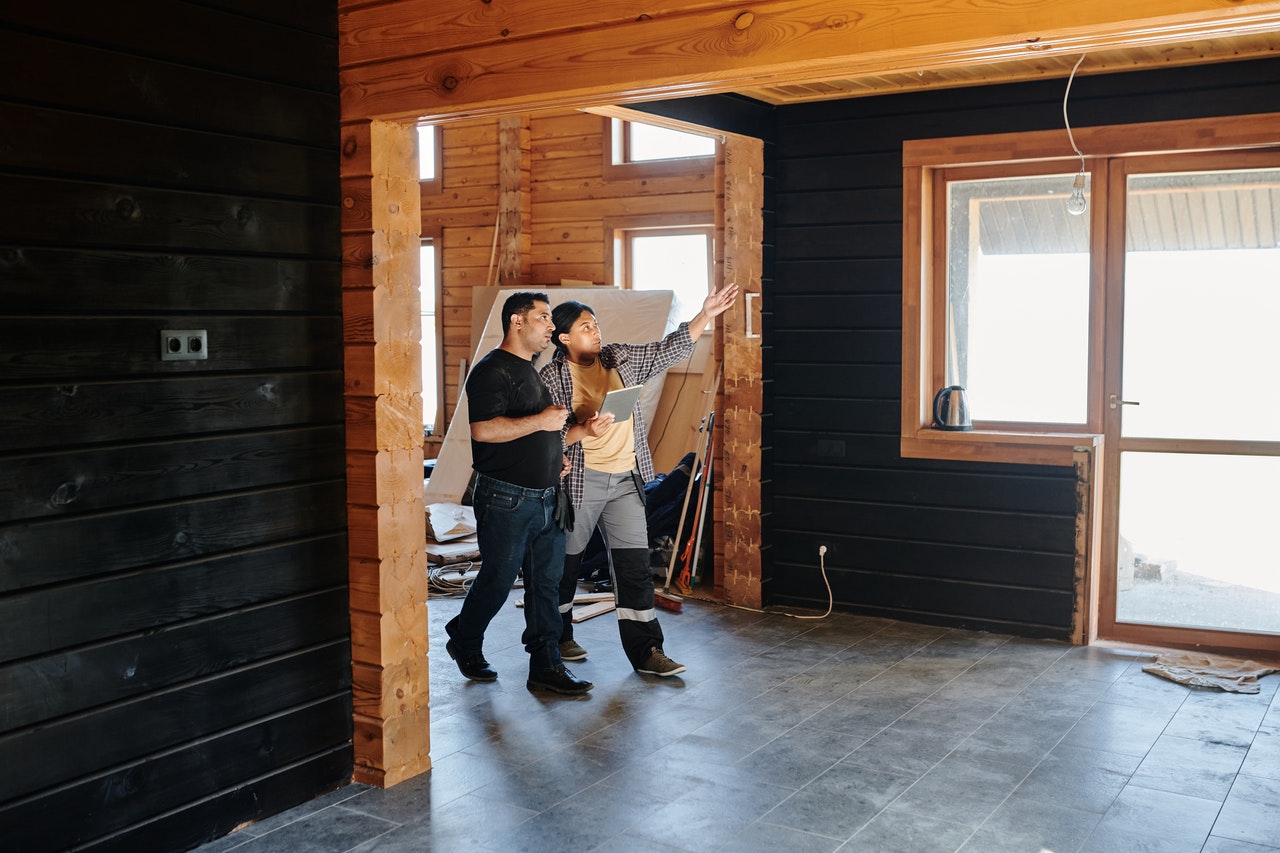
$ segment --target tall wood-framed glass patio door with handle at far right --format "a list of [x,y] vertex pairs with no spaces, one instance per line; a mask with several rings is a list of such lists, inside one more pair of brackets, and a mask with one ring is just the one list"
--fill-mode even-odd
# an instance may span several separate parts
[[1100,635],[1276,651],[1280,158],[1203,164],[1111,164]]

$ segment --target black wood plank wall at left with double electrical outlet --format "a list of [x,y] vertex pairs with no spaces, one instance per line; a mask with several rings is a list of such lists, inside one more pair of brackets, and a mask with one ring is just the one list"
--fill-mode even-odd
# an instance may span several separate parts
[[0,847],[342,784],[337,8],[5,4],[0,192]]

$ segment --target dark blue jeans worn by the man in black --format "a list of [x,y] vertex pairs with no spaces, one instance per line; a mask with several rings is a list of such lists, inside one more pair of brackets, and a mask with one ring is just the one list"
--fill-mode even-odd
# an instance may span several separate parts
[[516,574],[525,567],[525,633],[529,670],[545,672],[561,665],[558,589],[564,571],[564,532],[552,517],[556,487],[526,489],[479,474],[472,506],[480,571],[467,590],[462,611],[445,626],[458,651],[481,653],[484,633],[498,615]]

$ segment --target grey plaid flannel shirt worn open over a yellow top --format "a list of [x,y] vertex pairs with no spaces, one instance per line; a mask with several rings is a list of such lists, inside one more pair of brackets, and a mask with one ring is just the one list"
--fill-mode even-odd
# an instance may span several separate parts
[[[653,343],[605,343],[600,347],[600,364],[609,370],[617,370],[623,386],[637,386],[648,382],[673,364],[680,364],[694,353],[694,341],[689,337],[689,323],[681,323],[675,332],[662,341]],[[557,406],[570,410],[564,428],[561,429],[561,442],[564,433],[577,423],[573,415],[573,375],[568,370],[568,361],[564,353],[557,352],[539,371],[543,383],[552,392],[552,401]],[[649,450],[649,426],[644,423],[637,402],[631,411],[631,423],[635,429],[636,465],[640,476],[648,483],[654,478],[653,452]],[[566,447],[568,456],[568,493],[573,501],[573,508],[582,506],[582,483],[585,480],[586,464],[582,457],[582,442]]]

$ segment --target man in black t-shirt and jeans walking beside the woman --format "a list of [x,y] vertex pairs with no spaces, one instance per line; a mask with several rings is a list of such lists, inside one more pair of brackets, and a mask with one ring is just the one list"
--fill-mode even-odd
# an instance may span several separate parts
[[462,611],[444,626],[449,635],[444,648],[468,679],[498,678],[484,657],[484,633],[524,566],[526,684],[531,690],[579,694],[594,685],[568,671],[558,648],[564,532],[554,514],[556,489],[568,470],[561,443],[568,410],[552,403],[534,370],[534,359],[550,346],[554,328],[545,293],[513,293],[502,306],[502,345],[467,377],[481,562]]

